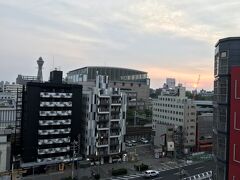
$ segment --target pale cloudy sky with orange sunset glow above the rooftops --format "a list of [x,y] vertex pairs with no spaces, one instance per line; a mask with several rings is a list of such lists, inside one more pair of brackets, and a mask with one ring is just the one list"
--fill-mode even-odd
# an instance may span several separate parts
[[213,89],[214,45],[239,36],[238,0],[0,0],[0,81],[114,66]]

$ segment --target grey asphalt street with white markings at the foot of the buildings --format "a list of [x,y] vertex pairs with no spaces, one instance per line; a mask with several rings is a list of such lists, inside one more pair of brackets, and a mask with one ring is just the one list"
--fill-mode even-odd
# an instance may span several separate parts
[[[149,169],[158,170],[160,176],[156,179],[175,180],[179,179],[180,170],[184,169],[187,176],[196,175],[202,172],[214,170],[213,161],[204,162],[192,162],[187,163],[185,160],[175,161],[172,158],[160,158],[155,159],[152,153],[151,146],[149,144],[138,144],[137,146],[127,148],[128,152],[135,152],[138,155],[138,160],[134,162],[121,162],[113,164],[95,165],[86,168],[79,168],[74,170],[74,176],[77,176],[80,180],[91,179],[91,172],[100,173],[101,179],[110,180],[127,180],[127,179],[143,179],[143,173],[134,169],[134,165],[144,163],[149,166]],[[112,169],[126,168],[128,174],[113,177],[111,176]],[[40,174],[24,177],[23,179],[36,179],[36,180],[59,180],[63,177],[71,175],[71,168],[67,168],[65,171],[49,172],[46,174]]]

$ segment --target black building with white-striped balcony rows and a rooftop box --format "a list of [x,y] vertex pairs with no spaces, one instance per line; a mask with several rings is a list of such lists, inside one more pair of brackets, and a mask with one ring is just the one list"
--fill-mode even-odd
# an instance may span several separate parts
[[22,103],[22,167],[69,162],[80,136],[82,86],[64,84],[55,70],[49,82],[28,82]]

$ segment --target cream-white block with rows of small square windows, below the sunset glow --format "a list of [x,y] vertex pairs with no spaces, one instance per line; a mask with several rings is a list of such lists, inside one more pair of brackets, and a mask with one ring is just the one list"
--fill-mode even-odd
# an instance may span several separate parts
[[175,90],[164,91],[153,100],[153,130],[156,124],[183,127],[184,147],[191,148],[196,143],[196,105],[185,96],[181,85]]

